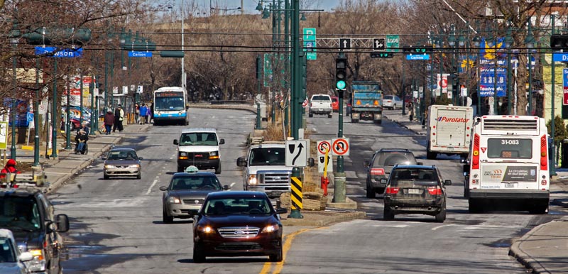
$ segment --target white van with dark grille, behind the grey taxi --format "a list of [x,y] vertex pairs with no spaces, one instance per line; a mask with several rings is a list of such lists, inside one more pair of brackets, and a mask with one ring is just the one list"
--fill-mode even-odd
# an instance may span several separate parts
[[219,139],[214,128],[189,128],[182,131],[178,145],[178,172],[183,172],[190,165],[200,170],[214,169],[221,174],[221,151],[219,145],[225,143]]

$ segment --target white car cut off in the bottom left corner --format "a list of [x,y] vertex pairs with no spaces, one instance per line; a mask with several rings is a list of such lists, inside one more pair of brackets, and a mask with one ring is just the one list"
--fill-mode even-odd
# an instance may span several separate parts
[[25,262],[32,260],[32,253],[20,252],[12,231],[0,229],[0,273],[30,273]]

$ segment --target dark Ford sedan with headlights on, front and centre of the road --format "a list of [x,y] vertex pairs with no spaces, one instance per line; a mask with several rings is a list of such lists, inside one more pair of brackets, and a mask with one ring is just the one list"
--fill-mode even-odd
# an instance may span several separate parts
[[193,261],[207,256],[268,256],[283,260],[282,223],[263,192],[230,191],[207,195],[193,222]]

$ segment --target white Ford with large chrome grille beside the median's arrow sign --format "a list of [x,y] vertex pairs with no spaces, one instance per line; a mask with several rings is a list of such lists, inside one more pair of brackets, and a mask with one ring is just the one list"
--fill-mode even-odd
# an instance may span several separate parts
[[292,167],[286,166],[284,142],[253,144],[246,155],[236,160],[244,167],[244,190],[265,192],[271,198],[290,192]]

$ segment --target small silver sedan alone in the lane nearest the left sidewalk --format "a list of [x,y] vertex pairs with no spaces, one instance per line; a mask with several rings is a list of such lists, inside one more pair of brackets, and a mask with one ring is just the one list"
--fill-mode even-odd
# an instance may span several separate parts
[[133,148],[112,148],[104,160],[103,176],[104,180],[111,176],[134,176],[136,179],[142,178],[142,168],[136,150]]

